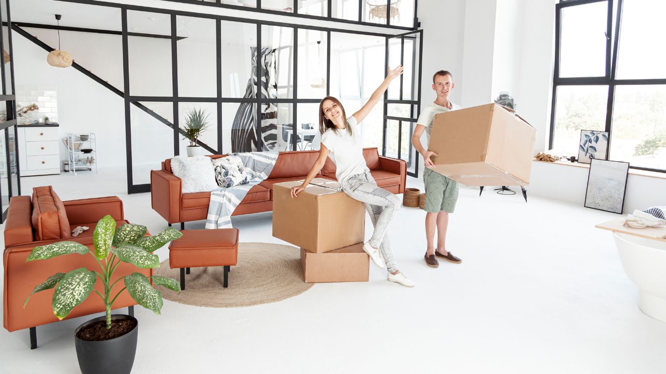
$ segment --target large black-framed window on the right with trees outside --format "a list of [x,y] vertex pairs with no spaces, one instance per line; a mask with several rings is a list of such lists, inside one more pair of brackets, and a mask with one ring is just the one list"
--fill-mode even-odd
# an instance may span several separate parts
[[550,148],[577,154],[580,130],[609,133],[607,159],[666,172],[666,51],[653,43],[666,2],[556,5]]

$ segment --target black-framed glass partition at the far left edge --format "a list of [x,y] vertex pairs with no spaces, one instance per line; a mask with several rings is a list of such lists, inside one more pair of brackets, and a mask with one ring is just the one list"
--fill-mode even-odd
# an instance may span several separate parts
[[9,199],[21,194],[19,180],[19,150],[17,147],[16,96],[14,87],[14,59],[11,45],[11,16],[9,0],[0,0],[0,49],[3,60],[0,66],[2,94],[0,94],[0,223],[7,218]]

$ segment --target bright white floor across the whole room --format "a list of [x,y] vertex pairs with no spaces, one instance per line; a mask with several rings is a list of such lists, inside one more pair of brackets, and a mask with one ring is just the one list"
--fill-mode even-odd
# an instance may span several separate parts
[[[132,222],[166,226],[149,194],[125,194],[123,170],[22,183],[26,194],[53,184],[63,200],[118,195]],[[666,323],[641,313],[611,234],[593,227],[612,217],[462,188],[448,240],[462,264],[428,268],[424,212],[403,208],[390,234],[413,289],[372,268],[368,283],[322,283],[254,307],[137,307],[134,373],[665,373]],[[280,242],[270,224],[270,213],[234,218],[244,242]],[[85,319],[38,327],[34,351],[27,330],[1,329],[0,373],[76,373],[72,333]]]

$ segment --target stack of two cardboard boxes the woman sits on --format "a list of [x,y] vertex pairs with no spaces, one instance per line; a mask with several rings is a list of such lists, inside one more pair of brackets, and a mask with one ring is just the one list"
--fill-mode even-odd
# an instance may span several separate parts
[[363,204],[340,192],[338,182],[324,178],[314,178],[292,198],[292,187],[302,183],[273,185],[273,236],[301,248],[307,283],[368,281]]

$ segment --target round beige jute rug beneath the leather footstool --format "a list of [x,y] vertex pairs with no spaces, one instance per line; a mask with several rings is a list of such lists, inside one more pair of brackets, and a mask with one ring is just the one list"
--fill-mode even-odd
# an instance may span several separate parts
[[[180,270],[168,260],[155,275],[180,281]],[[224,268],[190,268],[185,289],[178,293],[159,285],[165,299],[200,307],[245,307],[273,303],[303,293],[313,283],[303,281],[300,250],[268,243],[239,243],[238,265],[229,272],[228,287],[222,287]]]

